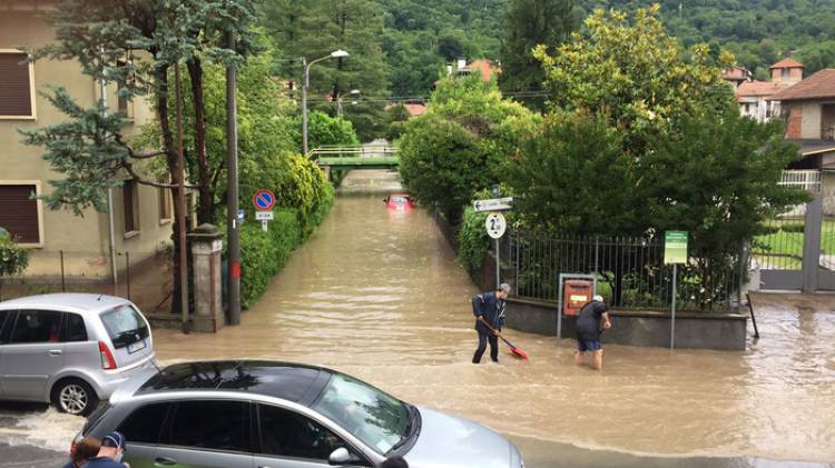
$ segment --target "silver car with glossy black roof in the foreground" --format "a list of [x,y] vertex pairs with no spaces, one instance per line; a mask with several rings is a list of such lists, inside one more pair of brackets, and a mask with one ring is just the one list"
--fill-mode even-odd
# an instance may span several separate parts
[[112,430],[136,467],[377,467],[394,455],[413,468],[524,466],[513,444],[479,424],[344,374],[274,361],[146,371],[101,404],[75,441]]

